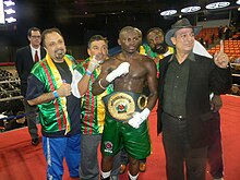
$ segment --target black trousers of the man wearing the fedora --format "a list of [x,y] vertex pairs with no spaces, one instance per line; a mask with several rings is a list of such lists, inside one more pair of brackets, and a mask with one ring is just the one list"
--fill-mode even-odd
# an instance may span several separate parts
[[[168,180],[205,180],[207,146],[192,148],[187,135],[187,120],[163,113],[163,143]],[[184,173],[185,171],[185,173]]]

